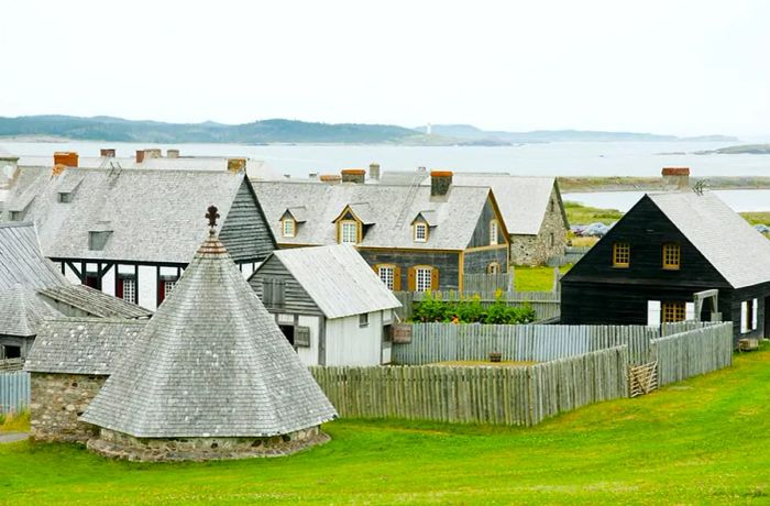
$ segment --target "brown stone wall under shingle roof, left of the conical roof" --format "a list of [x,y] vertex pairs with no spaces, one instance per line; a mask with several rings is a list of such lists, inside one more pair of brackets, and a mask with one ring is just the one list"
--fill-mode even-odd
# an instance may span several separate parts
[[107,376],[32,373],[31,437],[37,441],[85,443],[98,428],[78,420]]

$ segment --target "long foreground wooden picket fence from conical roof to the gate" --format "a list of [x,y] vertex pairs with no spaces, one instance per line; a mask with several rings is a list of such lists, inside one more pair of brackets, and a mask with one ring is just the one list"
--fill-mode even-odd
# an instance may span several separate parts
[[311,367],[342,417],[531,426],[627,396],[627,346],[543,364]]

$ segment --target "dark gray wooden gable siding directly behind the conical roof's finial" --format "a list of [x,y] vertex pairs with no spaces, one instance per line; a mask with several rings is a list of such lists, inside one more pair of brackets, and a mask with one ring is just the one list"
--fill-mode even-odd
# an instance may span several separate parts
[[267,219],[248,179],[238,189],[219,239],[235,262],[261,261],[277,249]]

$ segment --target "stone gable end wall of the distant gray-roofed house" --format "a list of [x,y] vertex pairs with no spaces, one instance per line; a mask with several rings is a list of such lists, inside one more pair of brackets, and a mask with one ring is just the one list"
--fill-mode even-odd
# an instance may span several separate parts
[[[551,210],[552,209],[552,210]],[[562,218],[562,204],[556,188],[546,208],[546,217],[537,235],[510,237],[510,263],[514,265],[542,265],[551,256],[561,256],[566,248],[566,227]],[[553,242],[551,243],[551,237]]]

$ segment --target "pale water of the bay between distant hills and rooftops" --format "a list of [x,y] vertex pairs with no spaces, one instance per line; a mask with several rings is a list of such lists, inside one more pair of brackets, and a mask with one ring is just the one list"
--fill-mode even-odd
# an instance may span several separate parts
[[[282,174],[338,173],[366,167],[409,170],[419,166],[458,172],[509,172],[549,176],[657,176],[664,166],[691,167],[694,176],[770,176],[770,155],[694,155],[732,143],[704,142],[558,142],[519,146],[391,146],[391,145],[242,145],[242,144],[131,144],[106,142],[3,142],[0,152],[50,155],[77,151],[98,156],[100,147],[114,147],[118,156],[136,150],[176,147],[182,155],[249,156],[266,161]],[[739,143],[734,143],[739,144]],[[659,153],[690,153],[685,155]]]

